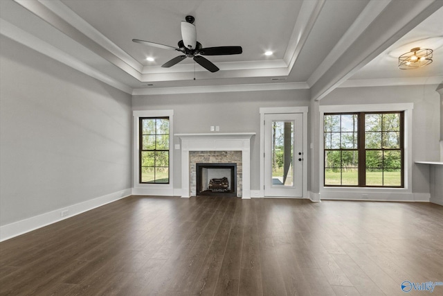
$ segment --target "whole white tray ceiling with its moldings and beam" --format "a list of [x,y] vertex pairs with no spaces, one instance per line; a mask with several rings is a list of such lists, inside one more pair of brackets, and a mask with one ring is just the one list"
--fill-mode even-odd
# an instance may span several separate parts
[[[132,94],[310,88],[319,99],[340,85],[442,82],[442,6],[442,0],[2,0],[0,33]],[[243,53],[206,56],[216,73],[190,58],[166,69],[160,65],[177,51],[132,42],[177,46],[186,15],[195,17],[204,47],[239,45]],[[398,55],[413,47],[434,49],[434,62],[399,70]]]

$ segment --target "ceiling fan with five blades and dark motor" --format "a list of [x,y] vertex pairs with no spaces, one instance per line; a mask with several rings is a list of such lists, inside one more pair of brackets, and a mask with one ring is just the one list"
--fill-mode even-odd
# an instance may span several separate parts
[[163,45],[159,43],[133,39],[133,42],[145,44],[149,46],[158,47],[160,49],[170,49],[174,51],[180,51],[184,53],[172,60],[165,62],[161,67],[169,68],[184,60],[185,58],[193,58],[195,62],[204,67],[208,71],[217,72],[219,68],[215,66],[210,60],[202,57],[201,55],[238,55],[243,52],[242,46],[216,46],[207,47],[206,49],[201,46],[201,43],[197,41],[197,31],[193,24],[195,18],[191,15],[186,17],[186,21],[181,22],[181,37],[183,40],[179,41],[178,47]]

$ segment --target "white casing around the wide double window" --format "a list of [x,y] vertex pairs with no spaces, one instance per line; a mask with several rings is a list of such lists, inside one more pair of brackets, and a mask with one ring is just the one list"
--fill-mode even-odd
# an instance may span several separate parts
[[[320,105],[320,195],[322,199],[386,199],[404,200],[403,193],[412,193],[412,127],[413,127],[413,103],[392,104],[362,104],[362,105]],[[352,186],[325,186],[324,171],[324,117],[325,113],[347,113],[347,112],[404,112],[404,188],[381,188],[381,187],[352,187]],[[349,195],[343,193],[350,193]],[[387,193],[387,195],[370,195],[366,193]],[[399,193],[396,195],[395,193]],[[393,194],[393,195],[392,195]],[[391,196],[388,196],[391,195]]]

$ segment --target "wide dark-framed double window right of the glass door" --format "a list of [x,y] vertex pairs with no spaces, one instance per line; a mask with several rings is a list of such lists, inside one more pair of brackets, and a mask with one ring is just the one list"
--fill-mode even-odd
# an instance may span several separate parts
[[324,185],[404,187],[404,112],[324,114]]

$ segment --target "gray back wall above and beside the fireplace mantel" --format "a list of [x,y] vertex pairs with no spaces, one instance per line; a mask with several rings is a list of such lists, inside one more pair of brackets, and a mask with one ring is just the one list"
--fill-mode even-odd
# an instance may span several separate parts
[[[260,189],[260,107],[300,107],[309,105],[309,90],[266,92],[225,92],[134,96],[134,110],[174,110],[174,133],[255,132],[251,139],[251,189]],[[174,137],[174,143],[180,143]],[[173,143],[173,144],[174,144]],[[181,188],[181,150],[174,150],[174,188]]]

